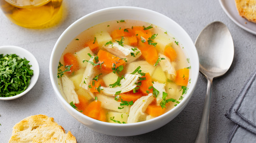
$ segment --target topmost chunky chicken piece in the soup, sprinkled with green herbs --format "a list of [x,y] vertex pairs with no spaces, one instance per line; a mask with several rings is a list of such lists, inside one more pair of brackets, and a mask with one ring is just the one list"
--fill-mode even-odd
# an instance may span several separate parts
[[[135,50],[134,47],[125,44],[121,46],[117,42],[103,46],[103,48],[119,58],[126,58],[127,63],[131,63],[141,56],[139,49]],[[131,55],[131,53],[133,53],[133,55]]]

